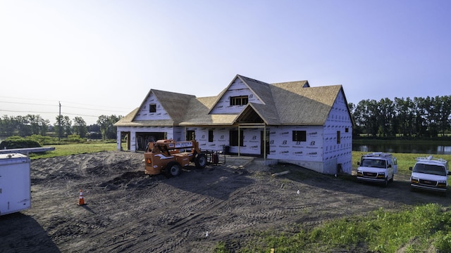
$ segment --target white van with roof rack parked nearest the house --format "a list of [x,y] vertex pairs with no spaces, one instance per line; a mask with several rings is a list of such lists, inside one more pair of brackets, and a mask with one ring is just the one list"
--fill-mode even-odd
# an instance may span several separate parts
[[382,183],[387,186],[397,174],[397,160],[390,153],[376,152],[362,155],[357,162],[357,181]]

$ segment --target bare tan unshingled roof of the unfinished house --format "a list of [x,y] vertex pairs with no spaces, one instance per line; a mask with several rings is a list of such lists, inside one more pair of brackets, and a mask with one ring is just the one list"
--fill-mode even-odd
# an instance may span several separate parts
[[235,78],[241,79],[263,103],[249,103],[237,114],[211,114],[226,89],[218,96],[203,98],[151,89],[146,98],[154,93],[171,119],[134,120],[137,108],[115,126],[233,125],[237,121],[245,122],[247,115],[253,119],[258,115],[268,125],[323,125],[338,93],[342,92],[341,85],[310,87],[307,81],[267,84],[242,75]]

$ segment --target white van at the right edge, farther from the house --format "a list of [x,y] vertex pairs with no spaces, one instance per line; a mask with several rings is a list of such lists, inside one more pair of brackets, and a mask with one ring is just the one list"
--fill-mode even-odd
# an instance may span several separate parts
[[448,175],[450,174],[447,160],[429,157],[416,158],[415,166],[409,167],[410,190],[431,190],[446,194]]

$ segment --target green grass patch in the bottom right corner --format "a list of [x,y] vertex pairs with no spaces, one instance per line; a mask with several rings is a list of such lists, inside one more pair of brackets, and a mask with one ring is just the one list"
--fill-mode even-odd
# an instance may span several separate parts
[[[399,212],[378,209],[313,229],[302,224],[293,229],[298,232],[262,231],[238,252],[397,252],[401,247],[400,252],[451,252],[451,211],[436,204]],[[229,251],[219,242],[214,252]]]

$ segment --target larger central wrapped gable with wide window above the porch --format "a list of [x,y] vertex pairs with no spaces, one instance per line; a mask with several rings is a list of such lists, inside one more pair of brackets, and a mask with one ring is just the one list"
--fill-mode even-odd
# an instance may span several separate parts
[[[264,103],[246,83],[247,77],[237,75],[220,94],[210,114],[240,113],[248,103]],[[257,80],[254,80],[257,82]],[[263,85],[263,84],[262,84]]]

